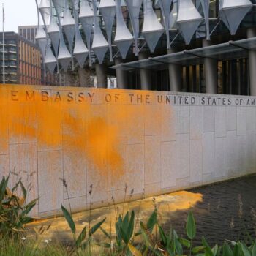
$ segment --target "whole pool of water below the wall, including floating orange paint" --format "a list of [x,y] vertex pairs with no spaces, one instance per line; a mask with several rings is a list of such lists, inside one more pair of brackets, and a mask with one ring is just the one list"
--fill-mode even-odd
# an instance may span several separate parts
[[[131,203],[121,203],[111,208],[97,208],[92,210],[91,214],[89,211],[73,214],[73,218],[80,232],[85,225],[89,225],[89,219],[91,225],[94,225],[106,217],[103,227],[114,235],[118,214],[125,213],[128,209],[135,210],[138,223],[140,221],[146,223],[154,211],[154,206],[159,209],[159,222],[165,231],[168,232],[172,226],[178,235],[184,237],[186,237],[187,214],[192,208],[197,226],[195,244],[200,243],[202,236],[205,236],[211,245],[222,244],[225,239],[244,240],[248,233],[255,238],[256,176],[190,189],[188,192],[176,192]],[[48,219],[31,226],[39,230],[41,225],[49,224],[50,229],[43,234],[43,238],[64,243],[72,241],[69,227],[63,217]],[[99,239],[102,238],[102,233],[96,235]]]

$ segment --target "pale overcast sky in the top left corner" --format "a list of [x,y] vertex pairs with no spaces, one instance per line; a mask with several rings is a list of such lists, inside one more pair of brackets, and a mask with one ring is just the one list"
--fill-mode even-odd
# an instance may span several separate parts
[[[4,31],[18,32],[18,26],[37,25],[35,0],[1,0],[0,3],[4,4]],[[0,17],[0,31],[2,31],[2,11]]]

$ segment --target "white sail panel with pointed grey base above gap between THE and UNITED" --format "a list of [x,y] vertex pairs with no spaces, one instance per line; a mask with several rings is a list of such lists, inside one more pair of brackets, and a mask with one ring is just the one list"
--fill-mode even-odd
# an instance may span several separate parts
[[143,0],[144,4],[144,22],[142,34],[145,37],[151,53],[157,46],[157,42],[164,33],[162,24],[157,19],[157,15],[153,10],[151,0]]

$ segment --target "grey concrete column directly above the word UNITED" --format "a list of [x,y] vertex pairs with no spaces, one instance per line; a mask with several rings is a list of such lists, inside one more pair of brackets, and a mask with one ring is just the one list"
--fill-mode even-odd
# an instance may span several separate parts
[[[176,50],[168,49],[167,53],[175,53]],[[177,64],[169,64],[170,91],[181,91],[182,88],[182,67]]]

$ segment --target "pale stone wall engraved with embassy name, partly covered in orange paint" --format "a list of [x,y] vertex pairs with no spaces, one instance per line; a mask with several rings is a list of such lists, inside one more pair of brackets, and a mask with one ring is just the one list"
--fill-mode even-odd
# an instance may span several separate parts
[[[39,197],[34,216],[254,173],[253,97],[0,86],[0,174]],[[92,185],[92,195],[89,191]],[[129,197],[129,196],[127,196]]]

